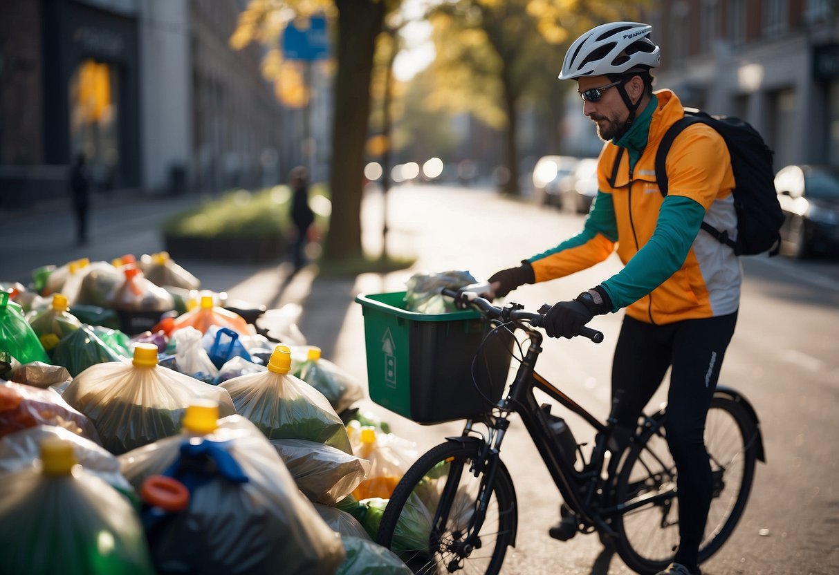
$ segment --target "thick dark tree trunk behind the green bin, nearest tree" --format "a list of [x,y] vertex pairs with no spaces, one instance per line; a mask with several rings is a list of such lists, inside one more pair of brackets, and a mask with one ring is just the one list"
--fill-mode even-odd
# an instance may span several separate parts
[[362,175],[370,113],[370,75],[384,3],[336,0],[338,16],[335,117],[329,186],[332,215],[324,260],[361,259]]

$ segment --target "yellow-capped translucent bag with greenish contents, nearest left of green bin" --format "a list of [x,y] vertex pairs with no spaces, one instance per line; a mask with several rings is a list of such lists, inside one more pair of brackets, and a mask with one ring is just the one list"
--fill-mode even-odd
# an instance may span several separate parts
[[239,415],[268,439],[307,439],[352,454],[347,428],[326,397],[289,374],[291,350],[278,345],[268,370],[234,377],[219,387],[230,392]]

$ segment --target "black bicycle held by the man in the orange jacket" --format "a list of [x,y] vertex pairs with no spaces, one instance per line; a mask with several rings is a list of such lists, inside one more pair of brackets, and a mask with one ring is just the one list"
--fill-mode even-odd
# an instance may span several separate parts
[[[489,401],[487,410],[466,419],[460,436],[431,448],[404,474],[384,511],[377,542],[397,552],[414,572],[468,567],[498,573],[508,546],[515,546],[518,525],[513,479],[500,458],[509,418],[518,413],[564,500],[560,528],[551,536],[567,540],[576,533],[597,532],[634,571],[663,569],[679,541],[665,409],[639,417],[628,440],[619,443],[612,436],[619,395],[607,421],[601,422],[535,371],[543,339],[536,328],[547,308],[533,313],[518,303],[497,307],[478,295],[486,292],[474,286],[442,291],[458,308],[477,310],[488,322],[482,345],[493,334],[524,332],[528,344],[524,350],[519,341],[519,368],[506,396],[492,401],[481,392]],[[602,341],[602,334],[591,328],[582,335]],[[537,404],[534,390],[594,428],[587,455],[587,444],[576,443],[564,420],[550,414],[550,404]],[[700,562],[732,534],[748,500],[756,461],[765,462],[757,414],[739,392],[717,388],[706,422],[706,446],[714,490]]]

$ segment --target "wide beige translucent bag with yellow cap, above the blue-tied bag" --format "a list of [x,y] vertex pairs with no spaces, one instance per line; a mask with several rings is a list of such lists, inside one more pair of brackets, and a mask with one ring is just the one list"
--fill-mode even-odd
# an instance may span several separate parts
[[111,453],[125,453],[180,433],[197,398],[217,401],[222,416],[236,412],[227,391],[158,365],[154,344],[136,344],[133,361],[92,365],[62,397],[90,417]]

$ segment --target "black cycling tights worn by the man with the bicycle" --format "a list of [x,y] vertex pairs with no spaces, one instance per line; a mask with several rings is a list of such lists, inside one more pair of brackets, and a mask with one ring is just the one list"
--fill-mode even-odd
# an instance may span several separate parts
[[667,325],[626,317],[612,364],[612,393],[624,391],[618,423],[630,428],[672,368],[664,428],[678,471],[681,541],[676,562],[689,568],[696,566],[713,488],[705,419],[735,324],[736,312]]

